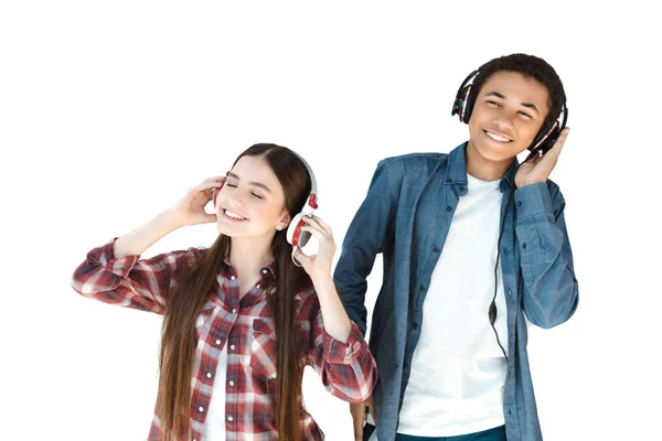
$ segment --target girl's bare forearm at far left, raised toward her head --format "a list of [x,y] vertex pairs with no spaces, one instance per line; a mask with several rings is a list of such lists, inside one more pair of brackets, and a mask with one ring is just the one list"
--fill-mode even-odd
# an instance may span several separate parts
[[181,222],[178,216],[168,209],[142,226],[119,237],[115,241],[115,257],[139,256],[180,226]]

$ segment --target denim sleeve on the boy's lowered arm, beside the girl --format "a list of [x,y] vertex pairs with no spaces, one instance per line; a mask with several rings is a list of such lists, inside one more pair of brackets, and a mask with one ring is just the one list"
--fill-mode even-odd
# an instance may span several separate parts
[[365,335],[367,276],[388,237],[396,197],[388,160],[382,160],[363,204],[350,224],[333,279],[350,319]]

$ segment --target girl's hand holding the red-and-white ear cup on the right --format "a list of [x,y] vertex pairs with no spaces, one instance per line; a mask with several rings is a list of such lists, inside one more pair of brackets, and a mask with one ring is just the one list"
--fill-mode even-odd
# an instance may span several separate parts
[[303,222],[306,222],[306,225],[301,227],[301,230],[310,233],[318,239],[320,246],[318,254],[314,256],[306,256],[301,249],[297,248],[295,251],[295,259],[301,263],[313,281],[316,278],[330,277],[331,263],[333,261],[333,255],[335,254],[333,233],[329,225],[318,216],[303,216]]

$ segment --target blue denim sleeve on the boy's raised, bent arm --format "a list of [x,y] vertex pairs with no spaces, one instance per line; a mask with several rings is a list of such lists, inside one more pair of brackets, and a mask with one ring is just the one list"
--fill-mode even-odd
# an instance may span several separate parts
[[565,201],[556,184],[515,191],[515,234],[524,281],[523,308],[530,322],[553,327],[577,309],[578,283],[565,225]]

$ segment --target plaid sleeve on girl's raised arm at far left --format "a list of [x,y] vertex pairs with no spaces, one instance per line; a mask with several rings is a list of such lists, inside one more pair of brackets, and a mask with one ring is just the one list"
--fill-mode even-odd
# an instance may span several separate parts
[[189,248],[150,259],[140,259],[140,256],[116,258],[115,240],[87,254],[87,259],[74,271],[74,290],[105,303],[164,313],[178,278],[202,251]]

